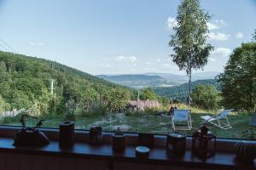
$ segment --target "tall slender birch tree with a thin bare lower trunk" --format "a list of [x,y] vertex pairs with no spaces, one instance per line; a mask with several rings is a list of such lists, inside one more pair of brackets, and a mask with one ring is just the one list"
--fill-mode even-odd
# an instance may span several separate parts
[[177,8],[177,26],[171,36],[169,46],[173,48],[172,61],[179,70],[186,71],[189,76],[189,96],[191,94],[192,69],[202,69],[213,47],[207,43],[207,21],[210,15],[201,9],[199,0],[183,0]]

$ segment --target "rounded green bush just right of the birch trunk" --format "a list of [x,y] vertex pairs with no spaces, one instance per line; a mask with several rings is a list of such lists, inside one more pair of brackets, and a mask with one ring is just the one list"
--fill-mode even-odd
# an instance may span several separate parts
[[196,86],[191,94],[193,104],[207,110],[216,110],[220,102],[220,94],[214,86]]

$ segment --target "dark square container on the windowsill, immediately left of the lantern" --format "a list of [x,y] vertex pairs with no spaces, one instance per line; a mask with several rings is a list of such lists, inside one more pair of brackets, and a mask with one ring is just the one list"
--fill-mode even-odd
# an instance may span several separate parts
[[169,153],[183,155],[186,151],[186,135],[183,133],[169,133],[166,148]]

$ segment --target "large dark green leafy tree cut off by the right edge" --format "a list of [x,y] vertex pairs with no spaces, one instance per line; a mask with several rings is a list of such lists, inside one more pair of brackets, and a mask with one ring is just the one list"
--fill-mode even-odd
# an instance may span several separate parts
[[218,77],[224,105],[237,110],[256,110],[256,42],[236,48]]

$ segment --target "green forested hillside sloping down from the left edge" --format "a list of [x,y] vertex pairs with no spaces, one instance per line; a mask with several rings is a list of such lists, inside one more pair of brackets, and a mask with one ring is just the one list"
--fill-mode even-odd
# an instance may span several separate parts
[[[133,95],[130,88],[55,61],[21,54],[0,52],[0,72],[0,112],[13,108],[61,112],[69,101],[78,105],[101,105],[108,103],[113,91],[124,99]],[[52,80],[54,95],[50,94]]]

